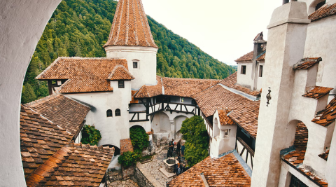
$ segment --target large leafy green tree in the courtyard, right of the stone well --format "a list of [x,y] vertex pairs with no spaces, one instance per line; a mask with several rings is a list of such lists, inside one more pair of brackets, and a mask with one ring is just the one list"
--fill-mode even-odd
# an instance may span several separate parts
[[183,121],[180,132],[186,140],[185,158],[190,166],[207,158],[209,135],[201,116],[193,116]]

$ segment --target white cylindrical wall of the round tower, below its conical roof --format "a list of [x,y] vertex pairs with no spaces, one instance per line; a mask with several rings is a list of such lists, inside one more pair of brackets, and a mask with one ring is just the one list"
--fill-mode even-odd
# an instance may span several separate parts
[[[105,48],[106,57],[125,58],[128,70],[135,77],[132,88],[139,89],[142,85],[156,85],[156,53],[157,48],[140,46],[108,46]],[[133,61],[137,60],[138,68],[133,68]]]

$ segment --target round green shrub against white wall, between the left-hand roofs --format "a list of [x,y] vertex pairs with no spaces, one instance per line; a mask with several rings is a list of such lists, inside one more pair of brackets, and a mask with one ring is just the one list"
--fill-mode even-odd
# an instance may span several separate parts
[[82,139],[80,142],[83,144],[90,144],[91,146],[97,145],[98,141],[102,139],[100,131],[94,125],[84,125],[82,130]]

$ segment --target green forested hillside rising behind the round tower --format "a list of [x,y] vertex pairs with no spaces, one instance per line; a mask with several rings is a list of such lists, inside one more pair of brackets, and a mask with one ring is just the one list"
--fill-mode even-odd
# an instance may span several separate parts
[[[117,1],[64,0],[52,14],[27,69],[22,103],[48,95],[46,81],[34,79],[57,57],[106,57]],[[158,50],[157,74],[181,78],[222,79],[234,72],[200,48],[148,16]]]

